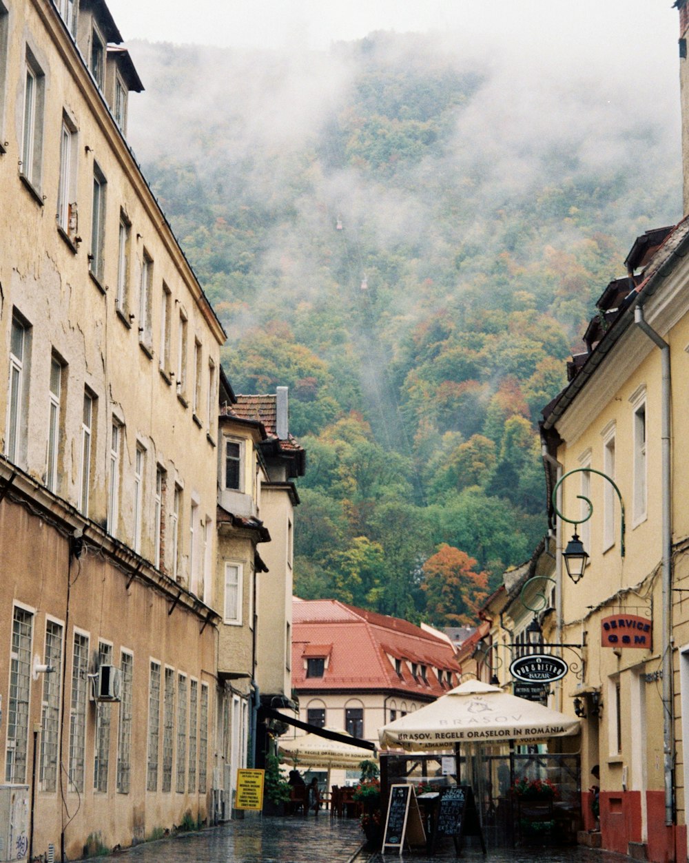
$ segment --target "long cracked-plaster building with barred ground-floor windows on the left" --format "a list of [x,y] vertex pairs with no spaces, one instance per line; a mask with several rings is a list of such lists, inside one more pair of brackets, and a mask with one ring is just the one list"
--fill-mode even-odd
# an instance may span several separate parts
[[212,782],[224,333],[123,136],[121,41],[102,0],[0,0],[0,739],[63,859]]

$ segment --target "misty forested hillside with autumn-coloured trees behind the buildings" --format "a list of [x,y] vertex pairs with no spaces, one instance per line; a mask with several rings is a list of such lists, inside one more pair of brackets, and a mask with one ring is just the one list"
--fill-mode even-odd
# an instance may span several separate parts
[[470,620],[545,531],[540,408],[634,237],[680,217],[679,142],[429,37],[132,53],[130,139],[225,370],[289,387],[296,592]]

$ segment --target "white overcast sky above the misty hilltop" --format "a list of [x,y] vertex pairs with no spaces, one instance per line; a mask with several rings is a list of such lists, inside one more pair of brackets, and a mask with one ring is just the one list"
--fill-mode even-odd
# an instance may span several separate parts
[[372,30],[457,31],[485,44],[608,52],[616,63],[676,68],[671,0],[108,0],[124,40],[328,47]]

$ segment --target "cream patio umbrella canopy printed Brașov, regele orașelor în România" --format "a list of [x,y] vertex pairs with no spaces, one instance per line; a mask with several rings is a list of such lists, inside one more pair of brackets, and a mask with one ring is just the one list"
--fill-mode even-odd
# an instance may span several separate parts
[[438,752],[457,743],[545,740],[577,734],[579,721],[538,702],[468,680],[414,713],[378,729],[382,748]]

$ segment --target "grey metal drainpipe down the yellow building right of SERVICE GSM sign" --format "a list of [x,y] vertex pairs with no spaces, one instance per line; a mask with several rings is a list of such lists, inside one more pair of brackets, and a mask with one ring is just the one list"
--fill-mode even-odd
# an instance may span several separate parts
[[665,766],[665,823],[673,823],[673,692],[672,692],[672,500],[670,488],[670,345],[652,329],[643,317],[643,306],[636,306],[634,323],[661,349],[661,491],[662,491],[662,675],[663,675],[663,753]]

